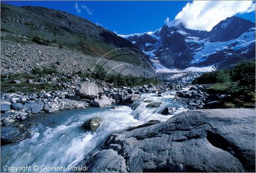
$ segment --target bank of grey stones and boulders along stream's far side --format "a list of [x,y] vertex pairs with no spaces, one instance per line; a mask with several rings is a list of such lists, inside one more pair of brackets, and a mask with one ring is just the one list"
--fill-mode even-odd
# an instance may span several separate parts
[[[8,80],[8,76],[6,77]],[[70,79],[63,82],[63,78]],[[23,81],[13,81],[22,83]],[[30,93],[5,93],[1,92],[1,144],[18,142],[30,137],[31,125],[29,119],[38,113],[55,113],[58,111],[86,107],[106,107],[112,104],[131,106],[143,93],[156,93],[162,97],[165,92],[176,92],[173,100],[178,104],[185,104],[189,110],[214,108],[220,100],[225,100],[228,95],[208,95],[206,85],[190,86],[188,84],[144,85],[139,87],[114,87],[113,84],[95,79],[84,79],[77,75],[47,75],[34,81],[33,84],[48,83],[59,86],[60,90]],[[186,88],[185,90],[182,90]],[[161,102],[145,101],[146,107],[161,107]],[[206,104],[205,104],[206,103]],[[207,107],[206,107],[207,106]],[[136,106],[133,106],[135,109]],[[162,107],[161,113],[173,114],[176,108]],[[23,122],[26,126],[19,126]],[[9,129],[7,129],[9,128]],[[10,129],[11,128],[11,129]],[[18,133],[16,133],[18,132]],[[19,135],[12,135],[13,133]],[[23,135],[26,134],[26,135]]]

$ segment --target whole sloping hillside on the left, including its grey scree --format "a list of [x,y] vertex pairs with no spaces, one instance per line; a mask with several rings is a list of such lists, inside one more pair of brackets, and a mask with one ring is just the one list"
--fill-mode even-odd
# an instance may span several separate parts
[[[20,71],[28,70],[57,61],[63,65],[60,69],[69,69],[71,66],[70,70],[83,70],[88,66],[92,68],[91,64],[97,62],[99,57],[123,47],[130,48],[119,49],[104,56],[106,61],[112,58],[116,62],[109,66],[110,69],[125,62],[137,71],[141,71],[137,68],[141,64],[146,64],[148,72],[154,71],[147,56],[136,45],[67,12],[42,7],[14,7],[2,3],[1,31],[1,39],[7,40],[1,41],[1,61],[4,64],[1,67],[4,73],[15,72],[18,68]],[[10,71],[10,68],[15,69]],[[141,75],[143,72],[132,73]]]

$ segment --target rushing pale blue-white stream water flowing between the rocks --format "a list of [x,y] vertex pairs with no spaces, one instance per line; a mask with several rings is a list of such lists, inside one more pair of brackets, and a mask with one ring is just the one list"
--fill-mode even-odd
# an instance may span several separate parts
[[[175,92],[166,92],[162,97],[155,93],[142,94],[134,104],[137,105],[135,110],[124,105],[116,106],[116,109],[89,107],[47,114],[37,120],[32,138],[1,146],[1,172],[6,171],[4,165],[76,165],[114,131],[135,127],[151,119],[165,121],[185,111],[185,105],[173,101],[174,95]],[[146,100],[162,102],[163,106],[176,107],[178,111],[174,115],[161,115],[158,113],[160,108],[146,108],[148,103],[143,102]],[[103,119],[101,126],[95,133],[85,132],[82,123],[93,117]]]

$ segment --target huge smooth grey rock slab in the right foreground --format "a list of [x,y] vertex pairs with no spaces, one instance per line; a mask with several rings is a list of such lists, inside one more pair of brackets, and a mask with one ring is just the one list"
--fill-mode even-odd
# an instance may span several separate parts
[[81,164],[88,172],[255,172],[255,110],[188,111],[114,133]]

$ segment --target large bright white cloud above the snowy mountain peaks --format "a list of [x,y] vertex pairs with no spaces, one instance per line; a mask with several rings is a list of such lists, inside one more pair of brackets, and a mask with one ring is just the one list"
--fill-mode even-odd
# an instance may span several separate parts
[[[210,31],[221,20],[236,14],[255,11],[254,1],[194,1],[187,3],[175,21],[182,22],[186,28]],[[172,24],[169,18],[165,23]]]

